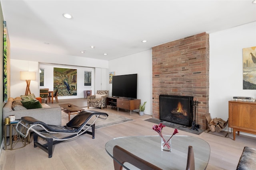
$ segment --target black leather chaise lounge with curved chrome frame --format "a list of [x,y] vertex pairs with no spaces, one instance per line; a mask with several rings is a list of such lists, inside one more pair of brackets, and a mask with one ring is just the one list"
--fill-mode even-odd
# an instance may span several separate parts
[[[71,119],[66,126],[47,125],[33,117],[21,117],[16,125],[17,132],[22,137],[27,137],[30,131],[33,131],[34,147],[39,147],[48,153],[48,157],[52,157],[52,146],[62,141],[74,139],[82,134],[88,133],[94,139],[95,134],[95,121],[97,118],[106,119],[107,113],[98,111],[80,111],[73,119]],[[90,124],[88,124],[90,123]],[[35,129],[41,127],[43,130],[38,131]],[[89,128],[91,127],[90,131]],[[26,133],[23,134],[21,129],[25,128]],[[38,143],[38,137],[46,140],[46,144]]]

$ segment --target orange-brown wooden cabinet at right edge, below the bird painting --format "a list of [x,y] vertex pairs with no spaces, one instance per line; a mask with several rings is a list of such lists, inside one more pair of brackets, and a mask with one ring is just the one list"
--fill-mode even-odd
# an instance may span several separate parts
[[236,131],[256,135],[256,103],[255,102],[228,102],[228,127],[233,128],[233,137],[236,140]]

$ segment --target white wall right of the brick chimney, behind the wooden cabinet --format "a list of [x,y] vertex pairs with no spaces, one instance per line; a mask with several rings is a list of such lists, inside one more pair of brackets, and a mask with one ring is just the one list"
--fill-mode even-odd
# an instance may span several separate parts
[[243,90],[242,49],[256,46],[256,22],[210,34],[209,112],[228,119],[233,96],[256,98],[256,90]]

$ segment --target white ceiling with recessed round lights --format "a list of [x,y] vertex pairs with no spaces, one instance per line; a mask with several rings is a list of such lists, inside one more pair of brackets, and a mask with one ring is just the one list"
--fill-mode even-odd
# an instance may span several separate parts
[[252,0],[1,0],[1,5],[11,47],[103,60],[256,21]]

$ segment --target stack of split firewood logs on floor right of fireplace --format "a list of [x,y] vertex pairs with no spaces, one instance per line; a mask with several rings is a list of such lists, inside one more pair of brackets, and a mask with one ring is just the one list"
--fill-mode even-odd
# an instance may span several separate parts
[[222,129],[224,127],[226,127],[226,125],[228,124],[227,121],[224,121],[223,119],[221,118],[214,118],[212,119],[211,118],[211,115],[210,113],[209,114],[206,114],[206,120],[209,124],[209,129],[213,132],[220,132],[222,131]]

